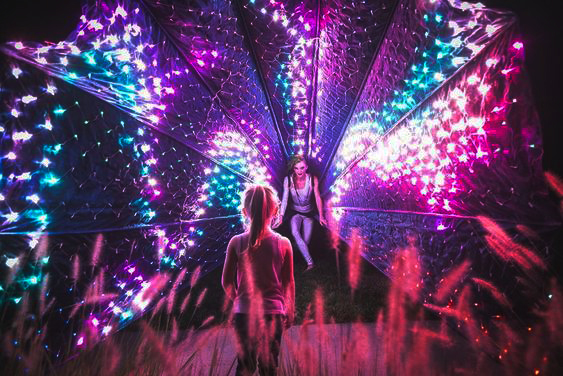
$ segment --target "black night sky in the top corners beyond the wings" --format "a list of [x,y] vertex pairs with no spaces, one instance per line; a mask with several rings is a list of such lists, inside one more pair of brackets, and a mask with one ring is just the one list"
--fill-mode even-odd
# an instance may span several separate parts
[[[350,0],[352,1],[352,0]],[[560,50],[558,1],[482,0],[489,7],[514,12],[526,47],[526,65],[542,122],[544,168],[563,175],[563,150],[558,150],[563,121],[563,65]],[[80,0],[3,0],[0,5],[0,42],[32,40],[57,42],[74,29],[81,14]]]

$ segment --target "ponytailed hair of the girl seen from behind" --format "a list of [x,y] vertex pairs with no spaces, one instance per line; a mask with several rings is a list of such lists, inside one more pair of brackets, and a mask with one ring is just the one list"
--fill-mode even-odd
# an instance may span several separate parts
[[260,245],[262,235],[270,219],[278,209],[278,199],[272,188],[263,185],[251,185],[242,195],[242,203],[250,218],[250,236],[248,249]]

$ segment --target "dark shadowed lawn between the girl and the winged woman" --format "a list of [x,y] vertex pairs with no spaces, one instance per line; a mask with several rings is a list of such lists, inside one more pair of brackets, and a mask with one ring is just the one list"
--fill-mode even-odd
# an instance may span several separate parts
[[[281,229],[287,235],[285,229]],[[295,244],[295,286],[296,286],[296,323],[300,324],[306,315],[309,304],[313,301],[316,291],[321,291],[326,302],[326,315],[332,322],[346,323],[360,320],[374,322],[377,313],[385,307],[386,295],[390,281],[387,276],[373,265],[360,260],[360,281],[353,292],[348,283],[348,268],[346,260],[346,244],[339,244],[338,250],[332,249],[327,236],[317,229],[316,236],[311,242],[311,256],[316,267],[305,272],[306,263]],[[190,305],[188,315],[179,319],[180,327],[187,328],[200,325],[208,317],[215,317],[215,323],[227,319],[222,314],[224,293],[221,287],[222,268],[216,268],[201,278],[194,288],[193,294],[199,295],[203,289],[211,297],[205,299],[197,310]]]

